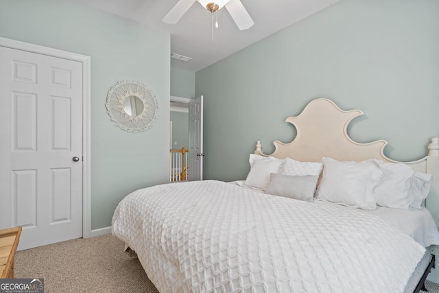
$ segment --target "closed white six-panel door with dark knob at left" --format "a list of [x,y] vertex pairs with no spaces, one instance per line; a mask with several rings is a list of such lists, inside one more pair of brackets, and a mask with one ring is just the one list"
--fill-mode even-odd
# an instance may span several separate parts
[[82,63],[0,47],[0,228],[82,237]]

